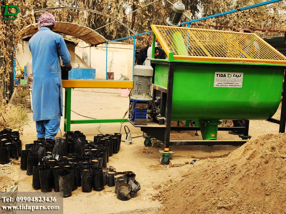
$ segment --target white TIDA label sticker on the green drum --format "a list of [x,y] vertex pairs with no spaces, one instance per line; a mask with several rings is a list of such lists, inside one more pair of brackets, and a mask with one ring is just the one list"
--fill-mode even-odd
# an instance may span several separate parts
[[241,88],[243,73],[215,72],[214,87]]

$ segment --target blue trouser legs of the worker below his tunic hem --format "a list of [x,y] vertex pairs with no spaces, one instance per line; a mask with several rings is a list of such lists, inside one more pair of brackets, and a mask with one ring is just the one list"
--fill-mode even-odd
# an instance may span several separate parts
[[36,121],[37,138],[55,139],[60,123],[61,116],[53,120]]

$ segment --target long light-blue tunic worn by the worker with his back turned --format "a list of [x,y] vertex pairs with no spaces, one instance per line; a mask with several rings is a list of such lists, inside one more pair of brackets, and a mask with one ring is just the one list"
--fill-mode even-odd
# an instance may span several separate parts
[[70,66],[71,56],[63,37],[47,27],[32,36],[29,49],[33,58],[33,120],[53,120],[62,116],[61,64]]

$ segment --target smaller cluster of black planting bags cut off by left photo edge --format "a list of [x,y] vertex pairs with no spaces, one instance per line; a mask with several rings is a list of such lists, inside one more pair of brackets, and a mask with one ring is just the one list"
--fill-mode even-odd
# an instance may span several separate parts
[[9,163],[9,158],[19,160],[22,142],[18,131],[3,129],[0,131],[0,164]]

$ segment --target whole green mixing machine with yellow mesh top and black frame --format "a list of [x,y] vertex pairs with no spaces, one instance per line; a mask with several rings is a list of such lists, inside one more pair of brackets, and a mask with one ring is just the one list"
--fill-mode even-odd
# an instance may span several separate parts
[[[251,138],[249,120],[273,120],[281,100],[283,54],[253,33],[151,27],[152,58],[150,65],[134,67],[129,121],[145,133],[145,146],[151,139],[164,142],[162,164],[174,154],[169,146],[242,145]],[[155,36],[167,59],[154,58]],[[172,120],[196,125],[171,126]],[[245,120],[245,127],[218,127],[221,120]],[[202,140],[170,140],[171,130],[200,130]],[[218,130],[243,134],[217,140]]]

